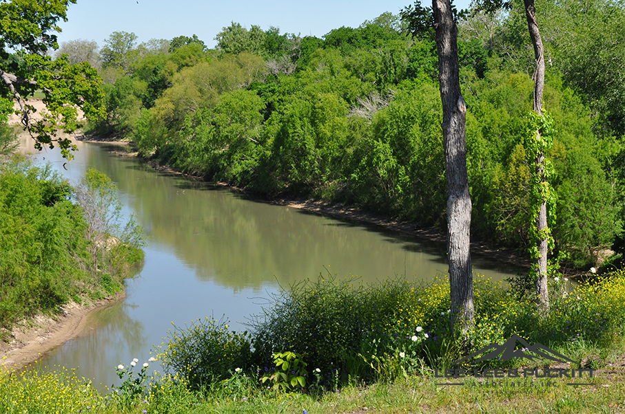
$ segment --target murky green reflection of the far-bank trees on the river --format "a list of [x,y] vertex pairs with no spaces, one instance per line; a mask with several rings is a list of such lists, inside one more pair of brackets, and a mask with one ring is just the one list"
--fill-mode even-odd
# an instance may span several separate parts
[[[170,248],[200,279],[235,290],[278,278],[283,285],[325,272],[363,281],[406,274],[431,279],[446,270],[444,246],[391,232],[242,199],[138,160],[90,153],[90,165],[130,195],[147,235]],[[384,240],[383,240],[384,239]],[[275,277],[274,277],[275,275]],[[496,276],[496,275],[495,275]]]

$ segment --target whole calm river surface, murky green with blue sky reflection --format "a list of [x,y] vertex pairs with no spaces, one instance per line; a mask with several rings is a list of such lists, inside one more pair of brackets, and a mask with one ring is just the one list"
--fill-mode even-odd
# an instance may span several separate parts
[[[77,182],[88,167],[119,186],[125,215],[136,214],[147,235],[145,263],[127,281],[127,297],[94,312],[82,336],[50,351],[41,367],[78,367],[94,384],[119,382],[118,364],[150,358],[167,330],[191,320],[225,316],[245,329],[280,285],[320,273],[362,283],[396,275],[431,280],[447,270],[444,246],[285,206],[271,206],[225,189],[159,173],[105,144],[79,143],[62,168],[57,151],[35,155]],[[43,158],[45,157],[45,161]],[[473,255],[474,272],[493,279],[515,268]]]

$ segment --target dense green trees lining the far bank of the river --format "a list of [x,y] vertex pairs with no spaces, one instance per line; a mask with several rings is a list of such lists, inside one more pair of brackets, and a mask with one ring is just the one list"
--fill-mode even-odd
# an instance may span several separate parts
[[[418,30],[429,19],[422,11],[385,13],[324,39],[232,23],[217,35],[217,50],[192,38],[174,39],[166,52],[130,47],[134,61],[106,85],[108,117],[96,129],[185,173],[443,228],[438,63],[431,36]],[[533,55],[521,12],[462,14],[459,50],[472,235],[526,252]],[[613,127],[588,109],[595,104],[566,70],[548,69],[554,254],[595,265],[622,235],[623,141],[617,129],[597,135]]]

